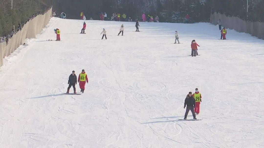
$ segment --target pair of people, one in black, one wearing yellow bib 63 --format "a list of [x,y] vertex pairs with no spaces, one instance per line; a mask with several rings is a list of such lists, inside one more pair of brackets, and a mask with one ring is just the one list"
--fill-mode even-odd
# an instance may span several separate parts
[[[79,86],[80,86],[80,88],[81,88],[81,92],[82,92],[82,93],[84,93],[85,82],[87,82],[87,84],[88,84],[87,74],[85,73],[85,71],[84,71],[84,69],[83,69],[83,70],[82,70],[82,73],[80,73],[80,74],[79,74],[79,77],[78,77],[78,83],[79,83]],[[72,74],[70,74],[70,76],[69,76],[68,84],[69,84],[69,87],[68,87],[68,89],[67,89],[67,94],[69,93],[70,88],[71,88],[72,86],[73,86],[74,94],[76,94],[76,88],[75,88],[75,85],[77,84],[77,76],[76,76],[74,70],[72,71]]]

